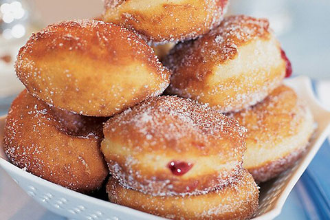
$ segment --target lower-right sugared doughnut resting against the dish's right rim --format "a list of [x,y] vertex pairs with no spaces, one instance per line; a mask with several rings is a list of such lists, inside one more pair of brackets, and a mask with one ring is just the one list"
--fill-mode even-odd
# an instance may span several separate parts
[[243,166],[259,182],[292,166],[315,128],[307,105],[284,85],[263,102],[232,116],[248,129]]

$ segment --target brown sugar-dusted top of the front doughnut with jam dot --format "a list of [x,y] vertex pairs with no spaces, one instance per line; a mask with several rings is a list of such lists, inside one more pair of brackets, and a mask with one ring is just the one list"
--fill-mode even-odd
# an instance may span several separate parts
[[[123,129],[126,127],[127,129]],[[135,133],[131,136],[133,130]],[[205,145],[203,148],[211,148],[212,145],[208,145],[211,142],[210,138],[222,140],[230,137],[233,140],[240,140],[245,135],[245,128],[236,120],[212,110],[208,104],[201,105],[193,100],[176,96],[159,96],[110,118],[104,126],[104,134],[114,133],[136,147],[146,144],[153,149],[170,148],[182,152],[191,151],[190,146],[170,144],[170,142],[173,140],[179,142],[191,134],[195,141]],[[240,143],[243,143],[243,140],[240,140]],[[200,149],[201,154],[205,153],[203,148],[197,148]]]

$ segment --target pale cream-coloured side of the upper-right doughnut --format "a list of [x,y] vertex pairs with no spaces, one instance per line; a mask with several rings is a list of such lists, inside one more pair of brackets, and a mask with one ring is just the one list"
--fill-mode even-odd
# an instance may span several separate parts
[[[241,104],[241,106],[238,107],[239,109],[245,109],[246,107],[256,104],[257,102],[265,98],[270,91],[275,89],[281,83],[281,78],[283,77],[281,75],[269,79],[267,78],[268,76],[265,76],[265,74],[269,75],[270,72],[274,71],[268,67],[275,66],[278,68],[283,63],[281,54],[278,52],[279,45],[276,39],[273,37],[271,42],[273,43],[270,43],[270,41],[258,40],[258,41],[254,41],[253,43],[249,43],[248,45],[245,45],[243,47],[239,47],[236,58],[214,67],[213,72],[214,73],[221,72],[221,75],[214,74],[213,76],[209,76],[207,78],[208,86],[212,87],[212,91],[209,91],[208,94],[206,95],[201,94],[201,96],[199,96],[198,99],[203,96],[212,96],[212,94],[217,94],[217,90],[219,87],[219,85],[217,85],[217,82],[221,82],[225,78],[231,78],[231,77],[234,78],[243,77],[245,81],[248,81],[245,82],[249,84],[248,87],[252,88],[253,90],[256,89],[256,91],[246,91],[245,93],[241,93],[239,91],[241,85],[230,85],[232,89],[234,89],[237,92],[240,92],[236,94],[234,100],[248,101],[247,104]],[[255,50],[255,48],[257,48],[257,50]],[[251,53],[252,51],[253,54],[256,54],[256,56],[249,56],[249,54],[252,54]],[[260,56],[261,54],[263,54],[263,56]],[[278,56],[274,56],[274,54],[277,54]],[[247,57],[250,59],[247,59]],[[262,67],[263,69],[268,68],[269,72],[263,72],[263,74],[259,74],[261,72],[259,70],[260,67]],[[232,69],[236,69],[236,71],[232,71]],[[223,73],[228,73],[228,74],[223,75]],[[256,76],[254,77],[253,75]],[[263,80],[265,82],[265,85],[263,85],[262,87],[254,88],[254,83],[256,82],[256,80],[258,80],[258,78]],[[221,87],[219,88],[221,89]],[[216,105],[214,106],[214,109],[220,109],[223,112],[227,112],[229,109],[231,109],[231,107],[230,105],[227,107]],[[232,110],[238,111],[239,109],[235,108]]]

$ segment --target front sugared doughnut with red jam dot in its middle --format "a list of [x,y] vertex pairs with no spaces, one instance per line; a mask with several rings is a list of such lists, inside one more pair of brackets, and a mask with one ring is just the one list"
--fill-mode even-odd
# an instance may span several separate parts
[[186,98],[146,100],[104,125],[101,151],[122,186],[152,195],[206,193],[234,181],[245,128]]

